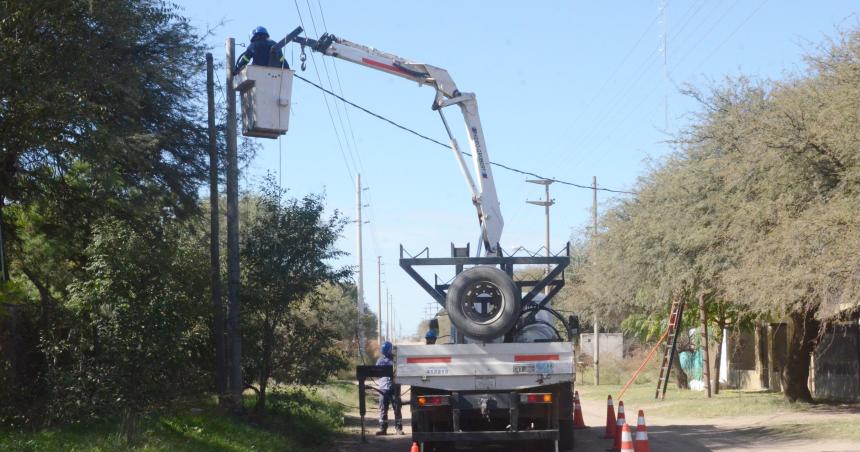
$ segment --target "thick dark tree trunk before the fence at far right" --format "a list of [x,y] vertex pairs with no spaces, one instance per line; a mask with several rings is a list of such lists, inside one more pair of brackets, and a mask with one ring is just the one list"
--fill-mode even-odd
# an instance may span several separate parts
[[812,402],[809,392],[809,360],[818,337],[815,311],[795,312],[788,316],[788,357],[782,369],[785,397],[792,402]]

